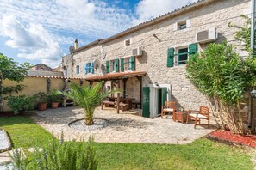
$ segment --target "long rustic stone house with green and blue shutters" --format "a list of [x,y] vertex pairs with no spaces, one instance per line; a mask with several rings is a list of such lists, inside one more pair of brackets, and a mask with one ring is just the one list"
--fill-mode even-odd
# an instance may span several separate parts
[[105,81],[108,89],[117,84],[122,96],[142,106],[145,117],[157,117],[165,100],[197,110],[209,102],[186,77],[185,61],[210,42],[239,45],[228,23],[244,23],[240,15],[250,9],[249,0],[199,0],[107,39],[81,47],[76,41],[62,59],[65,76]]

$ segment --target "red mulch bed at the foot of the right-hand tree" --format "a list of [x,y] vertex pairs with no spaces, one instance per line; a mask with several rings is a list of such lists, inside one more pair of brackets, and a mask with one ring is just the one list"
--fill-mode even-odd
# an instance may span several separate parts
[[245,145],[249,147],[256,147],[256,135],[246,135],[240,136],[233,134],[231,131],[217,130],[209,134],[209,137],[212,137],[220,142],[226,143],[236,143],[240,145]]

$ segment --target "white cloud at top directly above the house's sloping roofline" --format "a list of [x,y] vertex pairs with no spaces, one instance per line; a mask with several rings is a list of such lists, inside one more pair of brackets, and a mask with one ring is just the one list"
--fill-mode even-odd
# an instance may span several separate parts
[[133,22],[135,25],[139,24],[140,22],[150,20],[153,17],[163,15],[195,1],[196,0],[141,0],[136,7],[138,18],[134,19]]

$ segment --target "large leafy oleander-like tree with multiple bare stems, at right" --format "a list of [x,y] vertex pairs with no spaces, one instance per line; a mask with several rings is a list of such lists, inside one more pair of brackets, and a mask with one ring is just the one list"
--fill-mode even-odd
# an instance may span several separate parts
[[212,102],[217,123],[245,134],[240,106],[244,94],[256,82],[256,58],[240,58],[226,42],[212,43],[190,58],[187,75]]

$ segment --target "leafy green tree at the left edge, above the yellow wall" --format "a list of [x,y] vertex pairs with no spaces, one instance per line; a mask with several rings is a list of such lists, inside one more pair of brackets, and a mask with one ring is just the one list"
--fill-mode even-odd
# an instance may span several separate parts
[[10,81],[22,82],[26,76],[28,76],[28,70],[32,64],[23,63],[19,64],[12,58],[8,58],[0,53],[0,111],[3,111],[1,105],[3,100],[3,94],[11,94],[12,92],[20,92],[25,88],[22,84],[17,84],[12,87],[3,87],[3,80],[9,79]]

